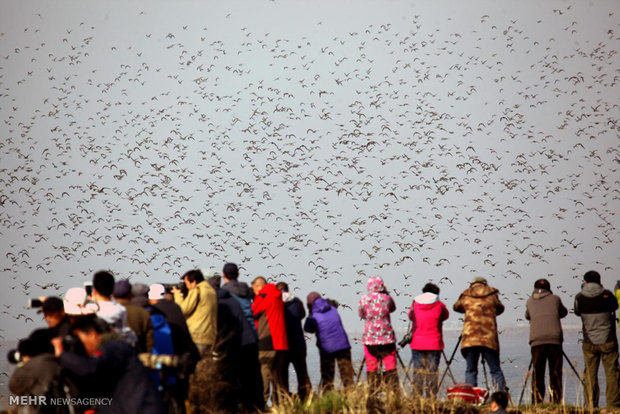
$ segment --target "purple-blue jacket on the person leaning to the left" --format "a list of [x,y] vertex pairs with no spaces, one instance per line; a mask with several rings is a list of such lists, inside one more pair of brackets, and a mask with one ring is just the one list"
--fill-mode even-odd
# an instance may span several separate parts
[[322,354],[351,348],[338,311],[323,298],[318,298],[312,304],[304,331],[316,333],[316,346]]

